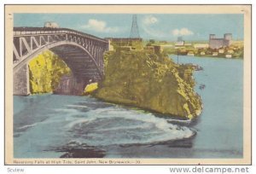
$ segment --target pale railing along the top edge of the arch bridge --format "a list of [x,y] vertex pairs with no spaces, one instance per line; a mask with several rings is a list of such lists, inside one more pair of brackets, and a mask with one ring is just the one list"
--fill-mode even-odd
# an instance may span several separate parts
[[103,38],[97,38],[93,35],[84,33],[84,32],[78,32],[72,29],[68,28],[46,28],[46,27],[14,27],[14,37],[20,37],[20,36],[31,36],[31,35],[41,35],[41,34],[75,34],[82,36],[84,38],[90,38],[94,39],[103,43],[108,44],[108,41]]

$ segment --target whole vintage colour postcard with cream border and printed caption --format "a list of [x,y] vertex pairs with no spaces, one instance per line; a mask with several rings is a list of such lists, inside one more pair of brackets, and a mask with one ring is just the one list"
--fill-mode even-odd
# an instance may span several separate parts
[[250,165],[251,5],[5,5],[6,165]]

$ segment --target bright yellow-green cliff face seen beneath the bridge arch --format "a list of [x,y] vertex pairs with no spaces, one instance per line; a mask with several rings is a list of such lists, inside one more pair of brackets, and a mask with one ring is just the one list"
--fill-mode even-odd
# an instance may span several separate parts
[[29,62],[29,83],[31,93],[46,93],[55,90],[62,75],[71,73],[64,61],[57,55],[44,51]]

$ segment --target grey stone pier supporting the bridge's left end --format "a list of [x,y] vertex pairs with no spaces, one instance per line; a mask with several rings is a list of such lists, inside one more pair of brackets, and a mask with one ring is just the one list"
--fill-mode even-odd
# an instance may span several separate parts
[[28,96],[30,95],[29,86],[29,68],[28,64],[20,67],[17,72],[14,72],[14,95],[16,96]]

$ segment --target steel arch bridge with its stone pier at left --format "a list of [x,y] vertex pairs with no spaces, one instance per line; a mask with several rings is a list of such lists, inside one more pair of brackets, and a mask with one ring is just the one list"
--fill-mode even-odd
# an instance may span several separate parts
[[51,50],[71,68],[78,85],[102,79],[103,54],[108,41],[67,28],[15,27],[13,31],[14,95],[28,95],[28,63],[44,50]]

